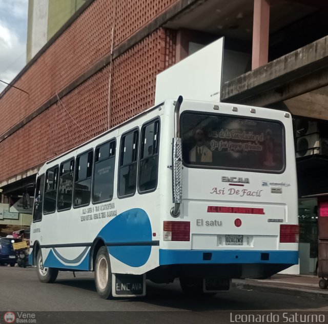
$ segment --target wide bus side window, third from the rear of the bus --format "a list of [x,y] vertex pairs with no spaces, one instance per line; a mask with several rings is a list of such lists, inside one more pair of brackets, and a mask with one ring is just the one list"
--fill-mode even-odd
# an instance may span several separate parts
[[116,140],[96,147],[92,202],[108,201],[113,198]]

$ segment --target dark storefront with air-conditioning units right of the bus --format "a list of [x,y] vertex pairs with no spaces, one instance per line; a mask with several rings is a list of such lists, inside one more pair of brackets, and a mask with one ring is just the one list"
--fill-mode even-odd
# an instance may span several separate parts
[[316,274],[320,206],[328,202],[327,122],[299,119],[295,123],[298,181],[299,273]]

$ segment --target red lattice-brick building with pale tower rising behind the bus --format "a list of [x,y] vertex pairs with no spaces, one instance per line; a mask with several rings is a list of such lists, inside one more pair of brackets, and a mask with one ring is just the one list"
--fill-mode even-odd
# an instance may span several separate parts
[[[318,133],[312,137],[320,146],[328,119],[327,15],[321,0],[31,1],[29,62],[0,94],[3,194],[33,194],[40,165],[151,107],[156,75],[221,36],[222,99],[289,110],[297,125],[316,125],[304,134],[296,127],[296,145]],[[300,151],[300,213],[307,215],[300,267],[308,273],[315,270],[315,217],[328,196],[327,163],[311,144]]]

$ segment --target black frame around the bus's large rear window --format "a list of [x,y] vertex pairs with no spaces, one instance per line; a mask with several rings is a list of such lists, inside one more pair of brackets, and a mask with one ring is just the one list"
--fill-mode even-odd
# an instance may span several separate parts
[[[192,168],[192,169],[212,169],[212,170],[229,170],[229,171],[242,171],[242,172],[256,172],[256,173],[265,173],[265,174],[282,174],[286,170],[286,129],[284,124],[277,119],[269,119],[269,118],[256,118],[252,116],[244,116],[244,115],[232,115],[232,114],[222,114],[222,113],[213,113],[213,112],[202,112],[202,111],[196,111],[196,110],[185,110],[180,115],[180,132],[181,132],[181,140],[182,139],[182,117],[184,114],[201,114],[201,115],[207,115],[207,116],[226,116],[226,117],[232,117],[232,118],[240,118],[240,119],[248,119],[248,120],[255,120],[258,122],[272,122],[276,124],[280,124],[282,129],[282,140],[283,140],[283,148],[282,148],[282,159],[283,159],[283,166],[281,170],[279,171],[272,171],[272,170],[257,170],[257,169],[247,169],[247,168],[229,168],[229,167],[217,167],[217,166],[209,166],[209,165],[194,165],[194,164],[188,164],[185,162],[185,160],[182,158],[182,165],[186,168]],[[183,155],[183,154],[182,154]]]

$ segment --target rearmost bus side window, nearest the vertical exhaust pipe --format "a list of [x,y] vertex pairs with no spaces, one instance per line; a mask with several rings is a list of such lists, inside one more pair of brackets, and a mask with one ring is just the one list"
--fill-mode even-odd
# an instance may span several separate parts
[[159,148],[159,120],[142,126],[138,169],[139,192],[153,191],[157,187]]

